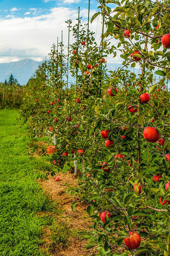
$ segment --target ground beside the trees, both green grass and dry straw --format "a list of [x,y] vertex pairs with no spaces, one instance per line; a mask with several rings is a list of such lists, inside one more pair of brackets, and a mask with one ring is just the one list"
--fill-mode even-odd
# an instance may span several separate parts
[[56,174],[60,183],[44,179],[48,163],[28,154],[31,140],[17,118],[17,110],[0,110],[0,256],[97,255],[95,241],[78,236],[92,223],[86,205],[71,210],[66,190],[76,179],[70,172]]

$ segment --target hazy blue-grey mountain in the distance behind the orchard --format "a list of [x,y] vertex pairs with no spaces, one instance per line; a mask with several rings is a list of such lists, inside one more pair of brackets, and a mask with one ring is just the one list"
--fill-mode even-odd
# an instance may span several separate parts
[[0,82],[9,79],[12,74],[20,85],[28,82],[33,72],[38,68],[39,62],[31,59],[24,59],[10,63],[0,63]]

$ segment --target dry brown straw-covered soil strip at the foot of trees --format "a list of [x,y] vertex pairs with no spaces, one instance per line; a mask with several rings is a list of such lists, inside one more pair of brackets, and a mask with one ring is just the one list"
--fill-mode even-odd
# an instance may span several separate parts
[[[37,144],[37,152],[34,152],[34,157],[39,157],[42,149],[46,144],[43,141],[36,142]],[[56,182],[55,177],[60,177],[60,181]],[[59,216],[58,214],[53,215],[54,218],[57,219],[57,222],[63,222],[63,224],[68,223],[73,233],[75,234],[69,238],[68,246],[62,247],[60,246],[53,247],[53,250],[49,250],[51,256],[93,256],[98,255],[94,252],[94,249],[98,246],[92,246],[90,249],[86,249],[88,246],[88,238],[82,238],[78,236],[78,232],[83,232],[87,229],[87,226],[92,225],[90,222],[90,218],[86,213],[87,204],[85,203],[77,203],[74,212],[71,209],[71,204],[75,201],[66,190],[69,187],[75,187],[77,184],[78,178],[74,176],[73,173],[70,172],[56,172],[55,177],[48,176],[46,180],[39,180],[40,185],[45,193],[51,196],[52,200],[59,204],[61,208],[62,214]],[[43,213],[39,213],[40,215]],[[43,228],[42,239],[45,241],[45,247],[49,248],[52,244],[52,241],[49,239],[50,230],[49,228]],[[93,244],[94,245],[94,244]],[[44,244],[42,245],[44,248]]]

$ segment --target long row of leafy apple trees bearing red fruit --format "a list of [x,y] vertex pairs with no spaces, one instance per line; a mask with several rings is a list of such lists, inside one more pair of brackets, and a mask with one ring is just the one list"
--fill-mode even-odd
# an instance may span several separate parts
[[[68,20],[75,38],[68,56],[63,43],[52,46],[27,84],[20,114],[30,134],[55,138],[44,153],[52,150],[57,171],[67,164],[76,175],[82,164],[77,188],[68,193],[73,211],[78,201],[86,203],[93,221],[85,234],[98,239],[99,255],[168,256],[169,1],[97,2],[91,22],[102,20],[100,45],[81,19],[75,26]],[[107,56],[119,52],[121,68],[108,70]],[[68,60],[71,85],[64,79]],[[138,75],[130,72],[135,66]]]

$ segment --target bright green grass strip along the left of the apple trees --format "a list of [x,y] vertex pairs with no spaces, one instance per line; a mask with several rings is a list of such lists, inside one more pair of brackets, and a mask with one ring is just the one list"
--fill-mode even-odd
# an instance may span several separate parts
[[0,110],[0,256],[48,255],[39,243],[42,226],[51,220],[36,213],[53,211],[55,204],[36,181],[41,164],[27,154],[30,139],[18,116]]

